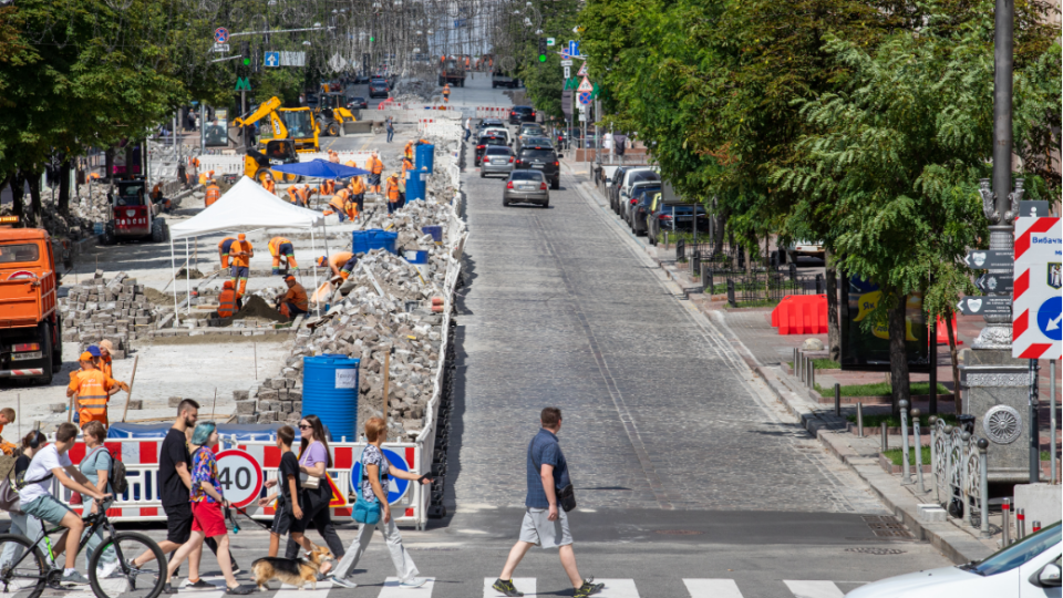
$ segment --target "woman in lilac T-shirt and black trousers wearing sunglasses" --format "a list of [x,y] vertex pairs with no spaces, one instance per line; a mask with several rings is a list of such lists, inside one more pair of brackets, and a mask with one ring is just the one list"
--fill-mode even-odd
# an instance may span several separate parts
[[[299,435],[302,436],[299,446],[299,482],[302,494],[302,518],[291,522],[291,535],[285,549],[286,558],[295,558],[299,546],[306,551],[313,549],[313,544],[306,536],[307,528],[313,525],[318,534],[329,546],[336,558],[341,558],[343,543],[332,525],[332,486],[324,480],[329,475],[326,470],[332,466],[332,455],[329,452],[329,441],[324,434],[324,426],[317,415],[307,415],[299,421]],[[319,573],[327,574],[332,568],[329,561],[321,564]]]

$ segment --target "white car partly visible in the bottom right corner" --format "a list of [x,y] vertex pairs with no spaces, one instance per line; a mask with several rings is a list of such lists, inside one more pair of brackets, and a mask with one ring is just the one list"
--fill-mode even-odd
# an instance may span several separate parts
[[1060,598],[1060,523],[982,560],[868,584],[846,598]]

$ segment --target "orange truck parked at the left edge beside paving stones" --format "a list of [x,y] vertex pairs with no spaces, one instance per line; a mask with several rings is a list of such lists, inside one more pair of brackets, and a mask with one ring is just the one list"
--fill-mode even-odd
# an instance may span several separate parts
[[50,384],[63,365],[52,239],[40,228],[11,228],[0,217],[0,378]]

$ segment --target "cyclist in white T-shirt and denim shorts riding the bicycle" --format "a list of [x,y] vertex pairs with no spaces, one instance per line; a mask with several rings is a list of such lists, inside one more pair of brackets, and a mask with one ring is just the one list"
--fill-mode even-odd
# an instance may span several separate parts
[[75,584],[80,586],[89,585],[89,579],[78,573],[74,566],[78,559],[78,546],[81,542],[81,534],[85,529],[85,524],[69,506],[61,503],[52,496],[52,478],[59,480],[63,487],[79,492],[82,496],[89,496],[95,501],[110,498],[110,494],[104,494],[95,488],[87,477],[84,476],[73,463],[66,452],[74,445],[78,437],[78,426],[64,422],[55,431],[55,442],[40,448],[30,461],[30,466],[25,470],[23,480],[25,485],[19,489],[19,503],[22,512],[48,522],[52,525],[59,525],[66,528],[62,537],[55,543],[55,557],[66,553],[66,565],[63,568],[62,584]]

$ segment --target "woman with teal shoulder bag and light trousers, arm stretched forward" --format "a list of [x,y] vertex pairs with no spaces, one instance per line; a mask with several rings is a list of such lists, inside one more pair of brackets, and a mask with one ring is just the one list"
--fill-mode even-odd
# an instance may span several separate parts
[[371,417],[365,422],[365,440],[369,444],[362,451],[362,457],[359,460],[362,464],[362,474],[358,492],[361,493],[361,499],[374,505],[380,504],[380,520],[373,524],[363,523],[358,528],[358,536],[348,549],[347,555],[336,566],[332,582],[344,588],[354,588],[358,586],[348,576],[358,566],[359,559],[369,548],[369,543],[373,539],[373,530],[380,529],[380,535],[388,543],[388,550],[391,553],[391,561],[395,565],[395,574],[399,577],[400,588],[420,588],[425,584],[425,579],[417,577],[416,565],[410,558],[410,553],[402,545],[402,536],[399,535],[399,527],[395,519],[391,516],[391,505],[388,504],[386,487],[389,476],[410,482],[420,482],[421,484],[431,484],[432,480],[424,475],[416,475],[404,472],[398,467],[392,468],[381,448],[383,442],[388,439],[388,424],[380,417]]

